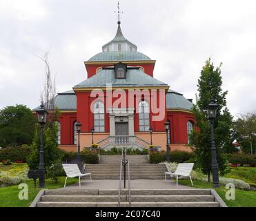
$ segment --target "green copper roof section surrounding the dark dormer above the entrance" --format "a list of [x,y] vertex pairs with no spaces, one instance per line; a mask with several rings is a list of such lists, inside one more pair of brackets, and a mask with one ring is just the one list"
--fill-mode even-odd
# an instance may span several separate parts
[[86,79],[85,81],[77,84],[75,88],[83,87],[100,87],[106,86],[106,84],[112,84],[112,86],[168,86],[167,84],[146,75],[139,68],[127,70],[126,79],[115,79],[114,69],[100,70],[97,75]]

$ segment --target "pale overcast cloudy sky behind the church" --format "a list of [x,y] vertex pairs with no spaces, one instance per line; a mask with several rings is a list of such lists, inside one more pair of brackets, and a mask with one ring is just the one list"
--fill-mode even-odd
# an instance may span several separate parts
[[[151,59],[155,77],[194,98],[208,57],[223,62],[233,115],[256,110],[255,0],[121,0],[124,36]],[[57,92],[86,79],[83,61],[115,37],[117,0],[0,0],[0,108],[38,106],[50,50]]]

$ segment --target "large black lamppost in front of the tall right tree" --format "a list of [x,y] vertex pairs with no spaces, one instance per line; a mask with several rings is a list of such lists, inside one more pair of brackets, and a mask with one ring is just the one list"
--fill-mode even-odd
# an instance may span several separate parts
[[215,146],[215,133],[214,133],[214,123],[217,114],[217,104],[215,100],[210,100],[208,105],[208,119],[210,120],[210,135],[211,135],[211,145],[212,145],[212,173],[213,173],[213,187],[219,188],[219,166],[217,162],[217,152]]

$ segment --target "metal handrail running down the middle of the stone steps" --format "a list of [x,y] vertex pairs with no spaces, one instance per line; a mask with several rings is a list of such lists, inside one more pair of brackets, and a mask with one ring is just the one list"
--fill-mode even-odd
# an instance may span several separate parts
[[131,191],[130,191],[130,162],[129,160],[126,160],[126,150],[124,153],[124,148],[122,149],[122,156],[123,159],[121,160],[120,163],[120,176],[119,176],[119,195],[118,195],[118,207],[121,206],[121,171],[122,171],[122,166],[124,166],[124,186],[126,183],[126,164],[128,164],[128,194],[129,194],[129,207],[132,205],[132,200],[131,200]]

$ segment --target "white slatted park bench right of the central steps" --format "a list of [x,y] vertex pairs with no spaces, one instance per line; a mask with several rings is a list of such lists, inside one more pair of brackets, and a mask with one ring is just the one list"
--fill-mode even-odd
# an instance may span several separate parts
[[166,181],[166,175],[170,175],[170,177],[172,177],[172,176],[176,177],[177,186],[178,186],[179,177],[190,177],[190,181],[191,181],[191,184],[193,186],[193,182],[192,182],[192,179],[191,179],[191,176],[190,176],[190,173],[193,170],[193,166],[194,166],[193,163],[178,164],[176,171],[173,173],[171,171],[170,164],[166,164],[166,168],[167,168],[168,172],[164,173],[165,181]]

